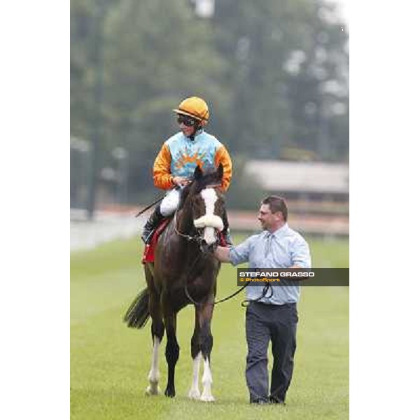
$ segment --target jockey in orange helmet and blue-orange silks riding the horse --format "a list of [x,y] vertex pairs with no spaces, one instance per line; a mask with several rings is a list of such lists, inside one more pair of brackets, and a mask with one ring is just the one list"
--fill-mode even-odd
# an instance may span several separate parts
[[[144,225],[141,239],[145,244],[151,242],[153,232],[163,218],[174,214],[179,206],[181,190],[190,183],[197,166],[207,170],[216,169],[222,164],[223,191],[228,190],[232,178],[232,160],[228,150],[216,137],[204,131],[204,125],[209,122],[210,117],[206,102],[199,97],[188,97],[172,111],[178,116],[181,132],[165,141],[153,165],[155,186],[169,192]],[[226,214],[223,216],[223,224],[222,235],[228,246],[231,246]]]

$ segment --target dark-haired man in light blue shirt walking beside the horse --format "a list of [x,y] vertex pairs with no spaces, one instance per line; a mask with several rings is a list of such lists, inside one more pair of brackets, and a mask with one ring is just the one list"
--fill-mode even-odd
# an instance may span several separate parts
[[[263,231],[238,246],[218,246],[214,252],[216,258],[232,265],[248,261],[249,268],[310,268],[307,241],[288,227],[287,218],[283,198],[266,197],[258,215]],[[274,286],[272,293],[267,293],[268,297],[260,298],[263,289],[264,286],[246,288],[246,297],[251,301],[246,308],[246,384],[250,402],[284,404],[293,373],[300,286]],[[274,363],[269,388],[267,350],[270,339]]]

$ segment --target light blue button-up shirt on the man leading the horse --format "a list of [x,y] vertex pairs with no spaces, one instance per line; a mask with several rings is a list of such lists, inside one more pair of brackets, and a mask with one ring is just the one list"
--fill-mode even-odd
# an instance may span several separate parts
[[[248,237],[238,246],[230,248],[230,262],[232,265],[249,262],[249,268],[288,268],[297,265],[311,268],[309,246],[303,237],[290,229],[285,223],[274,233],[264,230],[258,235]],[[247,299],[258,299],[262,286],[248,286]],[[273,286],[271,297],[263,297],[259,302],[269,304],[285,304],[298,302],[300,286]],[[270,289],[267,296],[271,295]]]

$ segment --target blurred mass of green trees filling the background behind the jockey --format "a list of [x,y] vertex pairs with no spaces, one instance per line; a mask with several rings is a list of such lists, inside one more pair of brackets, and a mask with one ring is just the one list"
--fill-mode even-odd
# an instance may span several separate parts
[[155,155],[178,130],[171,110],[193,94],[209,103],[209,131],[234,160],[346,160],[348,37],[333,6],[223,0],[202,20],[192,3],[71,1],[71,134],[90,141],[99,120],[99,169],[123,146],[131,200],[152,193]]

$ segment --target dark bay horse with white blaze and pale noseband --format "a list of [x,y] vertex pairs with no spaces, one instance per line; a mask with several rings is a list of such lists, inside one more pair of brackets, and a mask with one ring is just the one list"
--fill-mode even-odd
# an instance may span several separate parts
[[[160,236],[155,249],[155,262],[144,266],[147,288],[134,300],[125,315],[128,326],[142,328],[152,318],[153,356],[148,374],[148,395],[159,393],[158,351],[166,330],[165,356],[168,378],[165,395],[175,395],[175,365],[179,358],[176,340],[176,315],[187,304],[195,304],[195,328],[191,338],[193,383],[188,396],[214,401],[211,395],[210,353],[213,347],[211,318],[216,297],[216,278],[221,263],[207,252],[223,230],[225,203],[221,194],[223,166],[217,172],[204,174],[195,169],[194,179],[181,193],[174,218]],[[203,391],[200,393],[199,372],[203,360]]]

